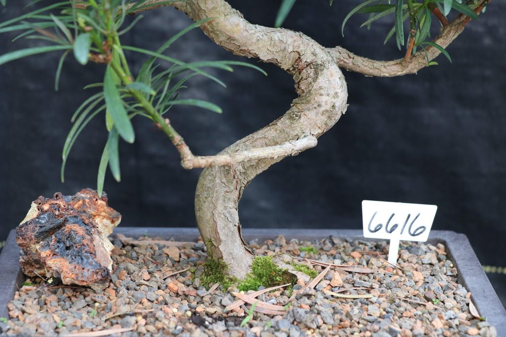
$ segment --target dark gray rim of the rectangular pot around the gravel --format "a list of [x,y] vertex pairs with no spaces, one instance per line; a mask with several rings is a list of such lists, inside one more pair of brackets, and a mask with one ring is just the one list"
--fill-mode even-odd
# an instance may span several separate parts
[[[196,241],[200,235],[196,228],[154,228],[154,227],[120,227],[115,234],[139,237],[146,233],[149,236],[174,238],[177,241]],[[340,229],[243,229],[245,241],[274,239],[283,235],[286,239],[320,240],[329,236],[371,240],[362,236],[361,230]],[[481,264],[464,234],[452,231],[432,231],[428,242],[443,243],[449,258],[458,270],[458,283],[471,292],[471,299],[478,312],[493,325],[497,331],[506,330],[506,311],[495,293]],[[18,287],[25,281],[19,268],[19,248],[16,244],[16,232],[12,230],[0,255],[0,317],[8,317],[7,304],[14,298]]]

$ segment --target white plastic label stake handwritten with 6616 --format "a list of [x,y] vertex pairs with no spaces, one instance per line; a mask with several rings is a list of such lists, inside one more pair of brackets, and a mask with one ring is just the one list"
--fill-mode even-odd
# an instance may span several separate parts
[[436,205],[363,200],[364,237],[390,240],[388,262],[397,265],[399,241],[427,241],[437,209]]

